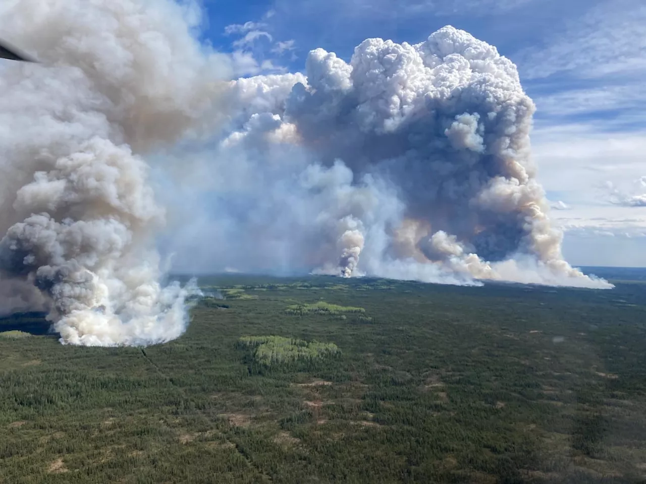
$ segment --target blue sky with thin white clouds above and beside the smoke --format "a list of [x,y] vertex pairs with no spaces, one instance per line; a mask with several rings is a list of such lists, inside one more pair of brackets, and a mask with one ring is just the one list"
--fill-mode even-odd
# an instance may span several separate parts
[[534,157],[567,259],[646,266],[643,0],[202,3],[204,40],[236,52],[240,76],[303,70],[317,47],[347,60],[368,37],[418,43],[444,25],[497,46],[537,105]]

